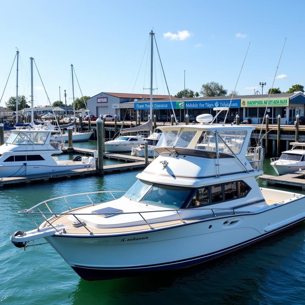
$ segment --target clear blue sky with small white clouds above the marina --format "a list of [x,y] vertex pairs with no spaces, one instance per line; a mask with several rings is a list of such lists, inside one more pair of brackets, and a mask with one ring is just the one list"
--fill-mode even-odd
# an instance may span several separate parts
[[[61,99],[66,89],[67,102],[71,102],[71,63],[84,95],[101,91],[149,93],[143,91],[149,87],[144,49],[152,27],[172,95],[184,87],[184,70],[186,88],[200,91],[202,84],[216,81],[229,91],[234,89],[249,42],[237,91],[261,91],[260,81],[267,83],[267,90],[285,37],[277,73],[282,78],[275,80],[274,87],[286,91],[292,84],[305,84],[302,10],[301,1],[2,2],[0,94],[16,47],[21,57],[20,94],[30,95],[31,56],[51,102],[59,99],[59,86]],[[154,93],[167,94],[157,57],[155,61],[154,88],[158,90]],[[16,64],[0,106],[16,94],[15,86]],[[34,87],[34,104],[46,105],[36,71]],[[75,91],[75,96],[81,96],[78,88]]]

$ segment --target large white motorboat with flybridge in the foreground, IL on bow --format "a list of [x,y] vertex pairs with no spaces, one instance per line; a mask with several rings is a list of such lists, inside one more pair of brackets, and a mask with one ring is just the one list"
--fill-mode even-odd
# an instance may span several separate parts
[[[160,155],[124,196],[105,202],[97,192],[38,203],[19,213],[45,221],[17,231],[13,244],[44,238],[82,278],[99,280],[203,263],[305,220],[304,195],[257,185],[262,158],[246,160],[254,127],[160,129]],[[243,141],[234,152],[224,141],[233,135]],[[82,206],[71,208],[77,201]]]

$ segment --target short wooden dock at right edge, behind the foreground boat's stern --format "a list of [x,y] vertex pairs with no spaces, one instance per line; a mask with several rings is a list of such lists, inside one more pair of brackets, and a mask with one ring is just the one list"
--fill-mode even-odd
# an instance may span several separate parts
[[305,170],[281,176],[261,175],[259,179],[266,181],[267,185],[292,186],[305,190]]

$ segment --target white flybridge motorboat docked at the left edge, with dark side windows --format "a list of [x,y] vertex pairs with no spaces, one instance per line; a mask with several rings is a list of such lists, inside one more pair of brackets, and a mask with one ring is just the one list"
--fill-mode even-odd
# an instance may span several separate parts
[[62,152],[60,143],[50,142],[52,130],[12,130],[0,146],[0,178],[56,173],[95,167],[95,158],[58,161],[53,154]]

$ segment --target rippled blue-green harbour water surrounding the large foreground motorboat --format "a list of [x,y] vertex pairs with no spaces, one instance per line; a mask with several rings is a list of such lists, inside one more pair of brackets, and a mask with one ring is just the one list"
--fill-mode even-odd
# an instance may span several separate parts
[[[105,160],[109,161],[112,162]],[[273,174],[269,162],[264,161],[264,170]],[[136,181],[138,172],[1,189],[0,303],[305,304],[304,224],[210,263],[97,282],[80,279],[48,244],[23,251],[9,241],[9,236],[18,229],[34,228],[29,217],[17,214],[18,210],[76,192],[127,190]],[[259,184],[265,186],[263,182]]]

